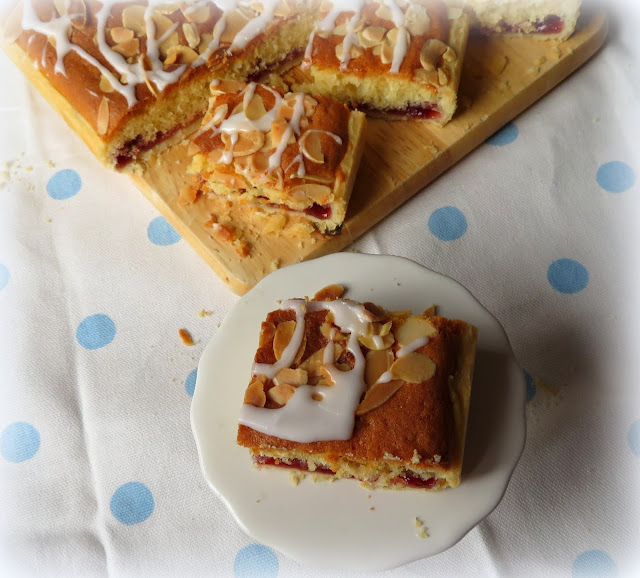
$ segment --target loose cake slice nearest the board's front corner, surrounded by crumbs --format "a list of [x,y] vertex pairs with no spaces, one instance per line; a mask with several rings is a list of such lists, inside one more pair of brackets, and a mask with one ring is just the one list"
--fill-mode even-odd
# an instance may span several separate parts
[[326,96],[214,80],[193,138],[195,188],[339,234],[364,146],[365,115]]

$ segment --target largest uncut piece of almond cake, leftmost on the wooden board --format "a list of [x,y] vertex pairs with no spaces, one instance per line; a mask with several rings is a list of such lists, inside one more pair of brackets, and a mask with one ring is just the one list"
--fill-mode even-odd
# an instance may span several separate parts
[[122,170],[197,128],[213,78],[245,79],[301,54],[313,20],[305,0],[24,0],[5,50],[94,154]]

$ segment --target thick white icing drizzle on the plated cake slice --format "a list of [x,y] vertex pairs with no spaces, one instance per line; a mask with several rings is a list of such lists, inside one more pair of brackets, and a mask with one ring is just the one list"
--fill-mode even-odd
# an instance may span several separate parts
[[[340,299],[327,302],[290,299],[282,304],[281,309],[293,309],[296,312],[296,328],[291,341],[280,360],[273,365],[254,364],[254,375],[262,374],[272,379],[280,369],[291,365],[302,344],[305,310],[331,311],[335,325],[341,332],[350,334],[347,350],[355,359],[354,367],[350,371],[340,371],[335,367],[332,331],[324,350],[323,362],[334,385],[300,385],[296,387],[287,404],[279,409],[244,404],[240,410],[240,423],[267,435],[300,443],[351,438],[355,410],[366,387],[365,359],[360,350],[358,337],[367,334],[367,328],[372,321],[371,314],[359,303]],[[321,396],[322,400],[315,401],[311,397],[314,394]]]

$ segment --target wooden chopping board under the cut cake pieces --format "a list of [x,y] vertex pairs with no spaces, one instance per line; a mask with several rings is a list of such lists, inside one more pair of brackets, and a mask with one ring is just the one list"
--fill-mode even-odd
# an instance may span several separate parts
[[[190,158],[181,143],[133,179],[173,227],[238,294],[275,268],[339,251],[422,190],[496,130],[584,64],[602,46],[602,11],[583,14],[565,42],[472,35],[465,55],[458,112],[445,127],[369,119],[366,146],[342,234],[325,238],[296,218],[287,234],[265,234],[267,219],[247,206],[200,197],[178,204]],[[211,215],[250,245],[241,257],[216,236]]]

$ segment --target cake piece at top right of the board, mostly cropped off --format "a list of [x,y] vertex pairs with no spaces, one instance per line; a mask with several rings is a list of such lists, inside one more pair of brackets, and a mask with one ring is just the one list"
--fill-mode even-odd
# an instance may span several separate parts
[[488,34],[565,40],[575,30],[581,0],[467,0],[473,28]]

